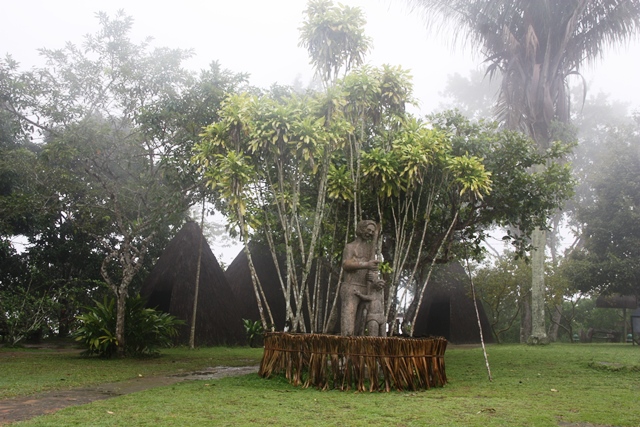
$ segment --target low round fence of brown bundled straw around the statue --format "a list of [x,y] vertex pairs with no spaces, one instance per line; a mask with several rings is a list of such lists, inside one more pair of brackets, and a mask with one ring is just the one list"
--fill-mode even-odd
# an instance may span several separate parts
[[320,390],[422,390],[446,384],[446,348],[440,337],[267,333],[258,374],[284,372],[294,386]]

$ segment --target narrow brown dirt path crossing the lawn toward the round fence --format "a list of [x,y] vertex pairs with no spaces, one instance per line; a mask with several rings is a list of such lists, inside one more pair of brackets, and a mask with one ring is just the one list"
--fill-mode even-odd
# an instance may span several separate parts
[[168,377],[136,378],[95,387],[55,390],[31,396],[0,400],[0,426],[28,420],[39,415],[53,414],[68,406],[85,405],[96,400],[109,399],[137,391],[148,390],[189,380],[208,380],[258,372],[258,366],[217,366],[188,374]]

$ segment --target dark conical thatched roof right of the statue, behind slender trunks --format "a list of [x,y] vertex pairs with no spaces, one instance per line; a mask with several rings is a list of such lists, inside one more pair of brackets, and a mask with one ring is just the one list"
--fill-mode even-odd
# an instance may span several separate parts
[[[436,269],[425,290],[414,336],[441,336],[454,344],[479,343],[478,319],[464,268],[457,262],[451,262]],[[478,312],[485,342],[494,342],[480,301]]]

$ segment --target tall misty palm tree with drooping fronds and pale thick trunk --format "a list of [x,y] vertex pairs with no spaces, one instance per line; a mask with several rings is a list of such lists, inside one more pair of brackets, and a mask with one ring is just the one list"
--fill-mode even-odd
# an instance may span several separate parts
[[[446,27],[486,58],[500,74],[497,116],[549,147],[554,121],[568,122],[567,78],[637,37],[639,0],[405,0],[430,27]],[[533,233],[532,343],[547,340],[544,327],[544,230]]]

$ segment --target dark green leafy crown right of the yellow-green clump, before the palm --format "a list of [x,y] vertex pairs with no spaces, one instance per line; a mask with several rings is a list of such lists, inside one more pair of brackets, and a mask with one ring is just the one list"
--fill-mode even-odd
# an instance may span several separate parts
[[[473,189],[481,183],[486,186],[486,180],[490,182],[491,191],[483,193],[482,198],[476,195],[471,209],[461,212],[465,214],[462,223],[467,225],[467,233],[482,240],[484,230],[491,224],[517,228],[519,234],[508,233],[504,238],[513,242],[519,255],[524,255],[533,230],[546,227],[547,218],[573,194],[571,168],[563,162],[572,145],[557,143],[552,149],[539,152],[530,138],[497,129],[493,122],[470,121],[455,111],[430,119],[436,130],[450,138],[449,157],[457,158],[460,168],[474,165],[465,171],[467,178],[462,183]],[[532,172],[536,165],[547,167]]]

